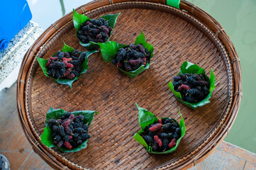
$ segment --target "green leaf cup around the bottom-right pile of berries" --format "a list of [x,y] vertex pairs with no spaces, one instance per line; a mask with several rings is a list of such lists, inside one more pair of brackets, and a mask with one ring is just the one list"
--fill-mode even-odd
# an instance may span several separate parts
[[[140,108],[137,105],[137,103],[136,103],[136,106],[139,109],[139,123],[140,123],[141,130],[134,134],[133,139],[135,139],[138,143],[143,145],[143,147],[145,147],[145,149],[150,154],[169,154],[169,153],[174,152],[177,149],[177,147],[179,146],[180,140],[182,140],[182,137],[184,137],[184,135],[186,133],[184,118],[182,117],[182,114],[180,113],[180,111],[179,111],[179,115],[182,118],[179,122],[179,127],[181,128],[181,137],[179,137],[179,139],[177,140],[176,145],[174,147],[172,147],[171,149],[165,151],[165,152],[153,152],[152,147],[148,146],[147,142],[145,142],[145,140],[143,139],[143,137],[140,134],[142,132],[144,132],[144,129],[145,129],[146,126],[157,122],[158,118],[155,115],[153,115],[152,113],[150,113],[150,111],[147,111],[145,108]],[[165,120],[167,118],[161,118],[161,119]]]

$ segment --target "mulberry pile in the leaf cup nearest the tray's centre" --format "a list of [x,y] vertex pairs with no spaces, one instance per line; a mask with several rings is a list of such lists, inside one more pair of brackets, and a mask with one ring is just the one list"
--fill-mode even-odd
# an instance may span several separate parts
[[138,69],[142,64],[145,66],[150,63],[150,55],[151,52],[143,45],[130,44],[128,47],[120,48],[111,63],[126,72],[131,72]]

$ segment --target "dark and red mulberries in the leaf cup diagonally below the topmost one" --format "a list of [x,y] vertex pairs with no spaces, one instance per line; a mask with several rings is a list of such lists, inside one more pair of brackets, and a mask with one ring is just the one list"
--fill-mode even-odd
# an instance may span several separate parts
[[73,52],[58,51],[53,57],[50,57],[46,64],[48,75],[55,79],[73,79],[78,77],[85,56],[86,52],[80,54],[77,50]]

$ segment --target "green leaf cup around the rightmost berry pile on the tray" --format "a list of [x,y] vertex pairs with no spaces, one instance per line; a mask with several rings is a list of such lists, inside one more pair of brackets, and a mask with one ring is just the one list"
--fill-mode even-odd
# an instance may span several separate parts
[[204,74],[206,79],[208,79],[208,81],[210,82],[210,88],[209,88],[210,93],[208,94],[208,96],[206,96],[206,98],[204,98],[204,100],[199,101],[198,103],[189,103],[187,101],[182,100],[182,95],[179,92],[174,91],[174,86],[172,85],[172,81],[169,81],[169,84],[168,84],[169,89],[172,91],[172,93],[174,94],[174,97],[177,99],[177,101],[179,101],[180,103],[183,103],[185,106],[188,106],[189,108],[193,108],[193,109],[196,109],[199,106],[204,106],[207,103],[210,103],[209,99],[211,98],[211,94],[213,93],[213,90],[215,89],[215,85],[214,85],[215,84],[215,76],[213,74],[213,69],[211,69],[211,79],[209,79],[203,68],[201,68],[198,65],[193,64],[191,62],[184,62],[182,64],[179,74],[181,74],[181,73],[182,74],[185,74],[185,73]]

